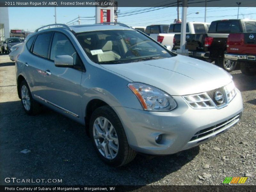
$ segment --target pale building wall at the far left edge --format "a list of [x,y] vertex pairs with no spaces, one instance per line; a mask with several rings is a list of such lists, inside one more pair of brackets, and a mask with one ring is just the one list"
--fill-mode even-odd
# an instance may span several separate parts
[[0,7],[0,41],[10,37],[8,7]]

